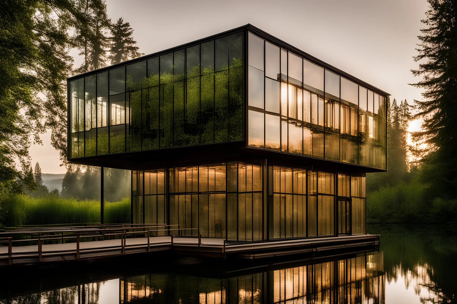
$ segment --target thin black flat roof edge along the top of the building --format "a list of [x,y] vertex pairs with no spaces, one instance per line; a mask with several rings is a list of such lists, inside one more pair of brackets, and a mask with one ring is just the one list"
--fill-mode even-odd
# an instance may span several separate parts
[[352,81],[352,82],[355,82],[356,84],[364,87],[364,88],[367,88],[375,93],[378,93],[378,94],[381,94],[383,96],[390,96],[389,93],[387,92],[384,92],[383,90],[379,89],[379,88],[376,88],[375,86],[372,86],[371,84],[367,83],[367,82],[364,82],[363,80],[357,78],[357,77],[354,77],[352,76],[351,74],[348,74],[342,70],[340,70],[339,68],[336,68],[332,65],[329,65],[328,63],[312,56],[312,55],[309,55],[308,53],[306,52],[303,52],[302,50],[296,48],[295,46],[292,46],[290,44],[288,44],[287,42],[285,41],[282,41],[278,38],[276,38],[275,36],[272,36],[270,34],[268,34],[267,32],[265,31],[262,31],[260,30],[259,28],[251,25],[251,24],[246,24],[244,26],[240,26],[240,27],[237,27],[237,28],[234,28],[232,30],[229,30],[229,31],[224,31],[222,33],[219,33],[219,34],[216,34],[216,35],[213,35],[213,36],[208,36],[206,38],[202,38],[202,39],[199,39],[199,40],[196,40],[196,41],[192,41],[192,42],[188,42],[188,43],[185,43],[185,44],[181,44],[180,46],[175,46],[175,47],[172,47],[172,48],[169,48],[169,49],[166,49],[164,51],[160,51],[160,52],[155,52],[155,53],[152,53],[152,54],[149,54],[149,55],[144,55],[142,57],[138,57],[138,58],[134,58],[134,59],[130,59],[128,61],[124,61],[124,62],[120,62],[120,63],[117,63],[117,64],[114,64],[114,65],[111,65],[111,66],[107,66],[107,67],[101,67],[99,69],[96,69],[96,70],[93,70],[93,71],[90,71],[90,72],[85,72],[85,73],[82,73],[82,74],[79,74],[79,75],[75,75],[75,76],[72,76],[72,77],[69,77],[67,78],[67,81],[72,81],[74,79],[79,79],[81,77],[85,77],[85,76],[89,76],[89,75],[93,75],[93,74],[96,74],[96,73],[100,73],[100,72],[104,72],[104,71],[107,71],[107,70],[111,70],[113,68],[116,68],[116,67],[122,67],[122,66],[127,66],[129,64],[132,64],[132,63],[135,63],[135,62],[140,62],[140,61],[143,61],[143,60],[146,60],[146,59],[149,59],[149,58],[153,58],[153,57],[157,57],[157,56],[160,56],[160,55],[164,55],[164,54],[168,54],[170,52],[175,52],[175,51],[178,51],[178,50],[181,50],[183,48],[186,48],[186,47],[190,47],[190,46],[195,46],[197,44],[200,44],[200,43],[204,43],[206,41],[211,41],[211,40],[214,40],[214,39],[218,39],[220,37],[223,37],[223,36],[227,36],[227,35],[231,35],[231,34],[234,34],[234,33],[237,33],[237,32],[240,32],[240,31],[245,31],[245,30],[248,30],[250,31],[251,33],[267,40],[267,41],[270,41],[271,43],[274,43],[276,44],[276,46],[280,46],[284,49],[287,49],[287,51],[290,51],[292,53],[295,53],[296,55],[298,56],[301,56],[303,57],[304,59],[310,61],[310,62],[313,62],[321,67],[324,67],[326,70],[329,70],[330,72],[334,72],[335,74],[341,76],[341,77],[345,77],[346,79]]

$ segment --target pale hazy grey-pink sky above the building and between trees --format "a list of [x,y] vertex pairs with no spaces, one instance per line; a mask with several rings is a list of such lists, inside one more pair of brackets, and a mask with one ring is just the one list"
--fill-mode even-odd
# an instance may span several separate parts
[[[112,22],[123,17],[140,52],[151,54],[232,28],[252,24],[381,90],[391,99],[421,99],[410,70],[428,10],[426,0],[140,1],[107,0]],[[71,55],[77,57],[76,50]],[[75,58],[75,65],[81,59]],[[413,122],[409,130],[420,128]],[[65,173],[50,144],[32,145],[32,164],[43,173]]]

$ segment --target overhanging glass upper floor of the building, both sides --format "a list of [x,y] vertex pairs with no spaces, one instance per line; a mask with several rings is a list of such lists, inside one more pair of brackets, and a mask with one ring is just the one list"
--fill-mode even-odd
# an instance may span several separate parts
[[68,160],[134,169],[204,151],[386,170],[388,96],[246,25],[70,77]]

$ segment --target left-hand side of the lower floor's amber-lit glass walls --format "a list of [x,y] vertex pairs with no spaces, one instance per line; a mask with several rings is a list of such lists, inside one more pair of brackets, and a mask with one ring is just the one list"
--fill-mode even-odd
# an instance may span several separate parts
[[185,236],[263,240],[262,168],[226,162],[133,170],[133,222],[167,224]]

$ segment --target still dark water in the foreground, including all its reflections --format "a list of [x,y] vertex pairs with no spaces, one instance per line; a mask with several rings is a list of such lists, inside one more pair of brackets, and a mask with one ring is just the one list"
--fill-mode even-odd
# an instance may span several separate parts
[[[173,271],[140,268],[112,278],[90,274],[74,285],[64,280],[71,273],[61,273],[40,279],[41,292],[33,291],[25,274],[17,282],[22,289],[16,283],[15,289],[0,287],[0,304],[456,302],[455,235],[436,227],[368,227],[368,232],[381,234],[379,252],[312,262],[232,264],[221,271],[206,263],[168,268]],[[52,285],[46,280],[61,282],[62,288],[43,288]]]

